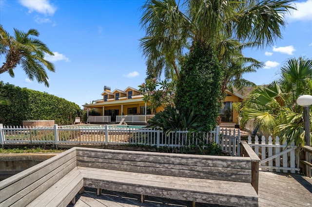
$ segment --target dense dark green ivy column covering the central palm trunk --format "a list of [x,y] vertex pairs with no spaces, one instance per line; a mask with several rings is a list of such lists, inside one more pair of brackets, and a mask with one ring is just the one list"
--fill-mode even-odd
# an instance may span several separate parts
[[215,128],[219,113],[221,69],[212,46],[195,44],[181,67],[175,104],[179,111],[194,109],[204,131]]

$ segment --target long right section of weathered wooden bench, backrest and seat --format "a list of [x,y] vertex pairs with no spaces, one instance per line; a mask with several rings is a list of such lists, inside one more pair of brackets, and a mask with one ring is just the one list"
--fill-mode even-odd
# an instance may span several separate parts
[[250,157],[77,149],[84,186],[227,206],[258,206]]

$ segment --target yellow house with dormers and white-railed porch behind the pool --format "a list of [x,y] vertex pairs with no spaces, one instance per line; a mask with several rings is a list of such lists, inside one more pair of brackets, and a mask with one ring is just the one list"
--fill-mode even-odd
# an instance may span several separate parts
[[[242,102],[244,96],[235,91],[226,91],[227,95],[220,109],[221,122],[237,123],[237,113],[233,110],[233,103]],[[91,104],[83,105],[87,108],[87,122],[93,123],[119,123],[124,119],[129,123],[145,124],[154,114],[148,108],[149,104],[143,101],[143,94],[136,88],[127,87],[124,90],[115,89],[111,91],[109,86],[104,86],[103,99],[93,101]],[[100,116],[89,116],[89,110],[96,110]],[[156,108],[156,113],[162,111],[163,107]]]

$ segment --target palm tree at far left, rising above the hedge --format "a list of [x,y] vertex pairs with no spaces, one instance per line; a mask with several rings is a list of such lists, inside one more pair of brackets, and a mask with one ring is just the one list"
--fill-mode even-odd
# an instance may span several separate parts
[[14,29],[13,37],[0,25],[0,55],[5,55],[0,73],[8,72],[11,77],[14,77],[13,69],[20,65],[30,80],[36,78],[39,83],[44,83],[48,87],[48,76],[44,68],[52,72],[55,72],[55,69],[51,62],[44,59],[44,56],[54,54],[43,42],[32,36],[39,36],[39,32],[30,29],[24,33]]

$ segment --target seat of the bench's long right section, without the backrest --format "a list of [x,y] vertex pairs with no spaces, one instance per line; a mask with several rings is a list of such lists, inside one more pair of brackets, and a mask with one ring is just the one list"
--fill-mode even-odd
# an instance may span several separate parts
[[227,206],[258,206],[250,183],[79,167],[84,186]]

